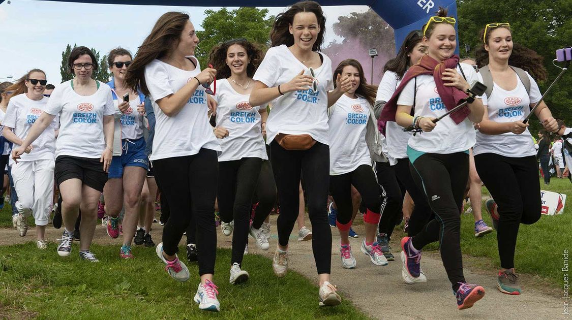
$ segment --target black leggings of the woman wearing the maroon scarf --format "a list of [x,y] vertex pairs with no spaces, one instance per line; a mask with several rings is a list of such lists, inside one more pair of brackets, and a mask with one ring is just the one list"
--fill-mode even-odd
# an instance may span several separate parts
[[411,175],[425,190],[435,219],[412,238],[415,249],[439,241],[441,259],[453,291],[465,282],[460,246],[460,207],[468,179],[468,154],[426,153],[411,165]]

